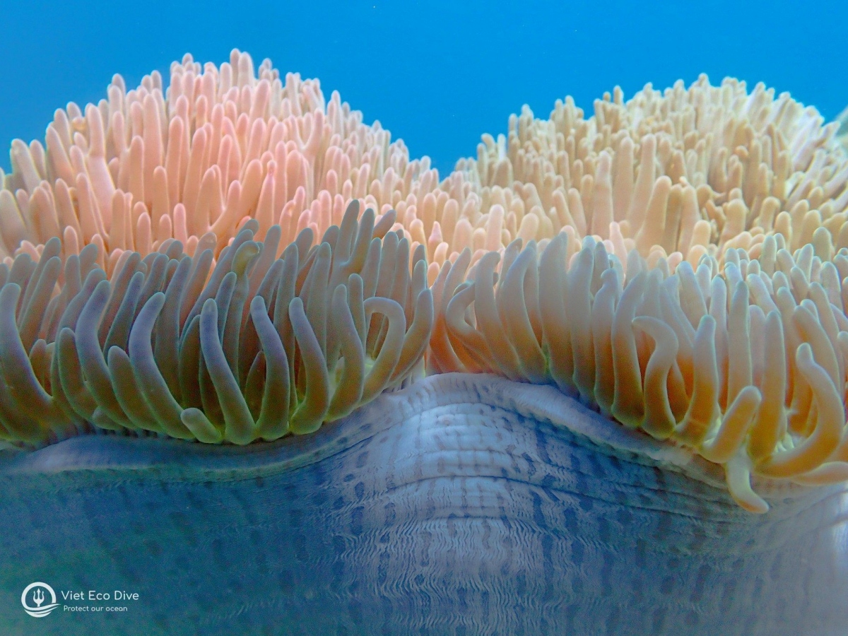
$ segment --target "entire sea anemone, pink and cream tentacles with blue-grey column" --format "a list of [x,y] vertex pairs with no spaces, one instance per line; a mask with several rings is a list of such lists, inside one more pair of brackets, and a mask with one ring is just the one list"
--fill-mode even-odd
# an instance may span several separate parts
[[838,124],[702,76],[525,107],[439,182],[258,75],[116,75],[13,142],[3,589],[99,572],[126,633],[844,624]]

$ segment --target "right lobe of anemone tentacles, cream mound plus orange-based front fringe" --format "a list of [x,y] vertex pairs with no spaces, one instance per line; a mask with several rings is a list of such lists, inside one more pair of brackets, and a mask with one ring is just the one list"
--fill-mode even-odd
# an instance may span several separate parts
[[525,107],[457,165],[480,203],[449,220],[431,367],[555,382],[722,464],[749,510],[751,472],[845,480],[848,158],[822,124],[704,75],[589,120]]

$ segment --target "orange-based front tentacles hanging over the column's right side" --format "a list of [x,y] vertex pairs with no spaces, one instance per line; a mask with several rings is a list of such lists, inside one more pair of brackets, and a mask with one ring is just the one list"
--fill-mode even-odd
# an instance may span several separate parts
[[707,256],[673,273],[636,252],[622,266],[592,237],[581,248],[561,234],[541,250],[511,243],[497,276],[499,254],[469,272],[466,249],[433,287],[431,364],[555,383],[721,464],[734,498],[765,511],[751,474],[848,478],[848,255],[822,263],[807,245],[793,258],[782,238],[759,259],[733,250],[722,272]]

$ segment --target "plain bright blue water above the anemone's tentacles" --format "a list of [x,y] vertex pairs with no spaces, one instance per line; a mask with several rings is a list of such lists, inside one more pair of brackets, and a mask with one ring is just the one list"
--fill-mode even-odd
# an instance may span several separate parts
[[[211,8],[202,8],[203,6]],[[0,3],[0,167],[14,137],[43,139],[53,110],[96,102],[114,73],[137,86],[191,52],[319,77],[365,120],[429,154],[444,175],[504,131],[523,103],[544,117],[571,94],[583,109],[616,84],[701,72],[764,81],[828,119],[848,105],[848,3],[237,2]]]

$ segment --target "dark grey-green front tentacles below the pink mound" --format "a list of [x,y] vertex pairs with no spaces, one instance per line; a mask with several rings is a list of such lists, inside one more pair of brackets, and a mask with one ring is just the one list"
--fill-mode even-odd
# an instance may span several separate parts
[[216,262],[207,235],[193,259],[173,239],[126,251],[111,277],[95,245],[63,259],[58,238],[37,264],[0,265],[0,434],[43,444],[90,423],[248,444],[315,431],[420,373],[423,250],[358,213],[280,258],[280,227],[257,243],[249,220]]

